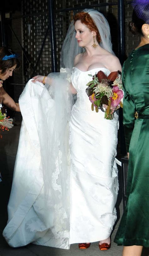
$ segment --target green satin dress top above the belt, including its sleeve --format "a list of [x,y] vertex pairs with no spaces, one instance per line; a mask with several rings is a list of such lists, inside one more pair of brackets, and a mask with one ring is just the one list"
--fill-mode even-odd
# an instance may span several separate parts
[[124,88],[123,118],[127,152],[135,125],[135,111],[149,114],[149,44],[130,53],[124,62],[122,81]]

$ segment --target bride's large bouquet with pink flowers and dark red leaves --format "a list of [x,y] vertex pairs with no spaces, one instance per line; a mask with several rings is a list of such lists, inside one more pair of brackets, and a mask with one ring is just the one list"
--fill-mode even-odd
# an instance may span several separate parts
[[[86,93],[91,101],[91,109],[101,109],[105,112],[105,119],[112,120],[113,114],[111,114],[110,107],[123,107],[123,89],[121,72],[114,71],[106,76],[102,71],[99,71],[95,75],[89,75],[92,77],[92,81],[88,82],[86,86]],[[106,111],[104,111],[102,105],[108,105]]]

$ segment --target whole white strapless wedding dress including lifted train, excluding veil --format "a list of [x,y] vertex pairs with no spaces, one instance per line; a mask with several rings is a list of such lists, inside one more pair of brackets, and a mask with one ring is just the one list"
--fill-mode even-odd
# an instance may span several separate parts
[[[33,242],[69,249],[71,243],[95,242],[106,239],[111,234],[116,220],[115,203],[118,193],[118,172],[114,161],[118,115],[114,113],[113,120],[105,120],[101,110],[98,113],[91,110],[86,84],[91,80],[88,75],[94,75],[99,70],[106,75],[110,73],[105,68],[83,72],[74,67],[72,71],[77,101],[73,105],[69,121],[70,230],[58,232],[59,226],[56,225],[57,231],[54,232],[53,211],[47,213],[47,222],[44,216],[44,165],[41,164],[39,131],[43,126],[50,127],[50,123],[39,125],[41,120],[38,100],[43,85],[34,85],[29,81],[21,95],[19,103],[23,121],[8,203],[8,224],[3,231],[3,236],[12,247]],[[53,104],[46,91],[41,101],[46,121],[48,113],[53,111]],[[55,192],[58,190],[55,187],[59,173],[55,179]],[[67,218],[69,216],[63,214],[61,223]]]

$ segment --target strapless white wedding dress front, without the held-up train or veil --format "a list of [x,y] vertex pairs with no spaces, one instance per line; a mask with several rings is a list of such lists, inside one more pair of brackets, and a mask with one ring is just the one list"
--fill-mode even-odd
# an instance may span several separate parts
[[91,110],[86,84],[99,70],[73,68],[72,84],[77,101],[70,118],[71,214],[69,243],[95,242],[110,236],[116,220],[118,170],[118,115],[105,120],[104,113]]

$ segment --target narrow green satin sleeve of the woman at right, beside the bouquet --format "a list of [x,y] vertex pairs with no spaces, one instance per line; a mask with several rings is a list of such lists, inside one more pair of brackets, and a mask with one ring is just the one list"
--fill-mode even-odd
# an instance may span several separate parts
[[123,90],[124,90],[123,124],[124,124],[124,132],[125,132],[126,149],[127,149],[127,152],[129,152],[130,139],[134,129],[135,104],[130,94],[125,89],[125,63],[122,69],[122,82],[123,82]]

